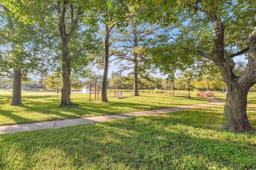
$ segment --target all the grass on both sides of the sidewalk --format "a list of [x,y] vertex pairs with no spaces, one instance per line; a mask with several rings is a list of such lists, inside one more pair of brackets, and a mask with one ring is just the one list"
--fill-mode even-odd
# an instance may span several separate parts
[[[123,92],[125,99],[110,103],[89,100],[87,94],[71,94],[80,106],[59,108],[60,94],[22,90],[21,106],[10,106],[11,91],[0,90],[2,124],[70,119],[174,107],[208,102],[152,92]],[[223,93],[216,98],[225,100]],[[94,96],[92,96],[93,98]],[[248,103],[255,103],[249,93]],[[1,170],[255,170],[256,133],[222,130],[224,106],[203,107],[169,114],[131,117],[103,123],[0,135]],[[256,128],[256,111],[248,109]]]

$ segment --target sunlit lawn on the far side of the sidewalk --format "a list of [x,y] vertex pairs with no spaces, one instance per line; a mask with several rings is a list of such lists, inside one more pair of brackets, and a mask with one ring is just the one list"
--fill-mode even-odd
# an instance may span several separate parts
[[[206,98],[192,97],[193,100],[188,100],[187,96],[149,95],[143,92],[140,92],[141,96],[138,97],[132,96],[131,92],[123,92],[126,98],[116,99],[113,98],[114,92],[111,91],[108,92],[109,103],[89,100],[89,94],[71,94],[71,101],[80,106],[60,108],[58,106],[61,94],[33,91],[35,90],[22,90],[23,105],[10,106],[12,90],[0,90],[0,125],[72,119],[209,102]],[[180,93],[184,94],[182,91]],[[91,98],[94,98],[94,94]]]

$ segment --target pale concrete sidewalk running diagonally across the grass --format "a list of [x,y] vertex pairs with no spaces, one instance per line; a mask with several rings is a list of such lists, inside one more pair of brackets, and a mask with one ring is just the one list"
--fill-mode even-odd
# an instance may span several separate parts
[[[208,99],[210,100],[210,103],[207,103],[207,104],[195,104],[195,105],[187,105],[187,106],[170,107],[165,109],[135,111],[130,113],[119,113],[119,114],[102,115],[102,116],[94,116],[94,117],[84,117],[84,118],[78,118],[78,119],[46,121],[46,122],[38,122],[38,123],[24,123],[24,124],[18,124],[18,125],[4,125],[4,126],[0,126],[0,134],[14,133],[14,132],[20,132],[20,131],[30,131],[30,130],[36,130],[36,129],[55,129],[55,128],[71,126],[71,125],[98,123],[98,122],[104,122],[104,121],[109,121],[113,119],[124,119],[127,117],[134,117],[134,116],[158,115],[162,113],[171,113],[173,111],[180,111],[185,109],[194,109],[198,107],[207,107],[207,106],[216,106],[216,105],[225,104],[225,102],[222,100],[217,100],[214,98],[208,98]],[[251,109],[256,109],[256,107]]]

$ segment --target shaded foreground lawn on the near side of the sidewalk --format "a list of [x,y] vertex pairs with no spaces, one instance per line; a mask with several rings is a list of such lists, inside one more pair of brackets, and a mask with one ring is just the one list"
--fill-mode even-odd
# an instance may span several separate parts
[[255,170],[256,134],[221,130],[223,107],[3,134],[0,169]]

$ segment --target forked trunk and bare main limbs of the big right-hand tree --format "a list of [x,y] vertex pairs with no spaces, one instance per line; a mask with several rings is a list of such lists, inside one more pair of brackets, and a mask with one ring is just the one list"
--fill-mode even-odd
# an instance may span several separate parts
[[211,20],[215,30],[215,50],[214,56],[209,58],[220,68],[228,87],[228,96],[224,107],[224,115],[226,117],[224,128],[236,132],[254,130],[248,121],[246,107],[248,90],[256,83],[255,29],[249,38],[249,57],[246,70],[241,77],[238,77],[233,73],[234,61],[232,57],[240,53],[234,55],[226,54],[224,51],[224,25],[221,22],[220,15],[212,16]]

